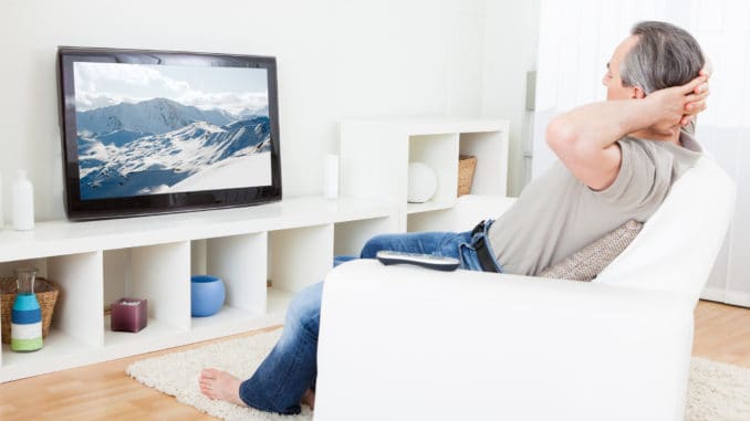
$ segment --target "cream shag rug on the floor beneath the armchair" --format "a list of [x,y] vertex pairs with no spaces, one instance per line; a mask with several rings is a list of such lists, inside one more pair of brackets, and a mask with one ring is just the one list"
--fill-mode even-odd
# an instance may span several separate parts
[[[132,364],[127,373],[146,386],[176,397],[179,402],[227,421],[311,421],[312,411],[305,406],[299,415],[280,415],[212,401],[198,389],[198,376],[205,367],[218,368],[240,379],[247,379],[271,351],[280,336],[281,329],[278,329],[148,358]],[[750,369],[692,358],[685,419],[750,420]]]

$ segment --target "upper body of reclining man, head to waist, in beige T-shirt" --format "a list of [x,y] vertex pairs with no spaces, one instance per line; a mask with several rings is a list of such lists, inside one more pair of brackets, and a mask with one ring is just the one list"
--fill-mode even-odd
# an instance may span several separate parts
[[701,154],[692,127],[680,127],[706,107],[704,66],[698,42],[685,30],[664,22],[633,28],[607,63],[607,101],[550,123],[546,141],[561,162],[490,227],[504,271],[534,275],[656,211]]

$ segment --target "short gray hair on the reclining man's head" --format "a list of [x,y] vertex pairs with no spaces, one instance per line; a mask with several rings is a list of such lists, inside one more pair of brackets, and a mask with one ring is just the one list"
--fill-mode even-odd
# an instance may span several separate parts
[[619,66],[624,86],[637,86],[650,94],[684,85],[697,77],[706,64],[698,41],[674,24],[640,22],[631,33],[638,41]]

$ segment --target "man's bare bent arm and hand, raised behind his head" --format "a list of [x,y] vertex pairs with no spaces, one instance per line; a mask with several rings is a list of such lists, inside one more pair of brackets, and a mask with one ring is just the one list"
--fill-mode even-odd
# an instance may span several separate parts
[[546,143],[575,178],[594,190],[606,189],[617,178],[622,161],[616,141],[647,127],[663,133],[677,130],[687,105],[705,99],[705,93],[692,94],[704,82],[705,76],[699,76],[643,99],[607,101],[572,109],[550,122]]

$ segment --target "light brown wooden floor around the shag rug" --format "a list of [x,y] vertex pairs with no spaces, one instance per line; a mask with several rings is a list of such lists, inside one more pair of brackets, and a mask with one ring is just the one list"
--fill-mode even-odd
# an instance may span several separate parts
[[[750,367],[750,309],[700,302],[694,355]],[[0,385],[0,420],[213,420],[125,375],[131,362],[146,356]]]

